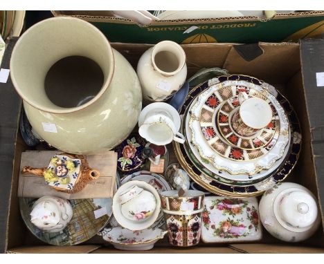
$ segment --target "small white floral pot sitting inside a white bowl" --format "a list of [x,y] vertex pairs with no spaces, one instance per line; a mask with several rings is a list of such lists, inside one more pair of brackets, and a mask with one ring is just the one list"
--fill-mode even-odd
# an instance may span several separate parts
[[120,194],[123,216],[129,220],[143,221],[150,217],[156,207],[156,199],[150,191],[136,185]]

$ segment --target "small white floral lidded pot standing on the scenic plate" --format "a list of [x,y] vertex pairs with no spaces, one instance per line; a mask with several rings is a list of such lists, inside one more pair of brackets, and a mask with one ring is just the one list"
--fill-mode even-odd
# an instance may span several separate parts
[[33,205],[30,222],[48,232],[60,232],[70,222],[73,209],[69,200],[56,196],[43,196]]

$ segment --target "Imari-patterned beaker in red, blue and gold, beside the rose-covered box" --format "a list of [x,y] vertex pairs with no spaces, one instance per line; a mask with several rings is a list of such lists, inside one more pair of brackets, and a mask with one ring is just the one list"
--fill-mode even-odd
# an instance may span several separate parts
[[170,244],[178,247],[197,245],[201,236],[204,193],[189,190],[179,197],[178,191],[163,191],[161,206]]

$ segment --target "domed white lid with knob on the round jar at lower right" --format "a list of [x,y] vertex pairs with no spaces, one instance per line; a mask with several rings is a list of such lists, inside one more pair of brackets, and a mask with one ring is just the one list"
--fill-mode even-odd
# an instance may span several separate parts
[[305,232],[314,225],[318,209],[312,194],[289,188],[282,191],[273,203],[274,214],[282,227],[291,232]]

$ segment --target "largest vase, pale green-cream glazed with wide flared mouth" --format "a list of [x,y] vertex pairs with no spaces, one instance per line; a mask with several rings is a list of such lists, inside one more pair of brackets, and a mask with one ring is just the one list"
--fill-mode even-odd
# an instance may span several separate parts
[[[78,85],[60,86],[66,79],[73,82],[83,77],[76,73],[75,79],[62,78],[73,67],[56,68],[62,73],[51,79],[58,83],[57,89],[46,90],[51,66],[71,56],[85,57],[98,66],[102,82],[96,93],[91,82],[84,91]],[[132,132],[141,113],[141,85],[132,66],[98,28],[81,19],[54,17],[26,30],[12,51],[10,75],[33,129],[62,151],[83,154],[112,149]],[[53,103],[47,93],[67,106]]]

